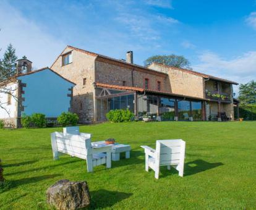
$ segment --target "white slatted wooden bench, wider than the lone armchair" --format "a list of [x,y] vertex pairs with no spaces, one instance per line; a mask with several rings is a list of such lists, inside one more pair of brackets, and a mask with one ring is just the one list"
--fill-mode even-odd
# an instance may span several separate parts
[[[90,135],[90,133],[89,133]],[[59,153],[70,154],[87,161],[87,172],[93,172],[93,167],[106,164],[111,168],[111,145],[92,148],[91,139],[87,134],[74,135],[70,133],[51,133],[53,159],[59,159]]]

